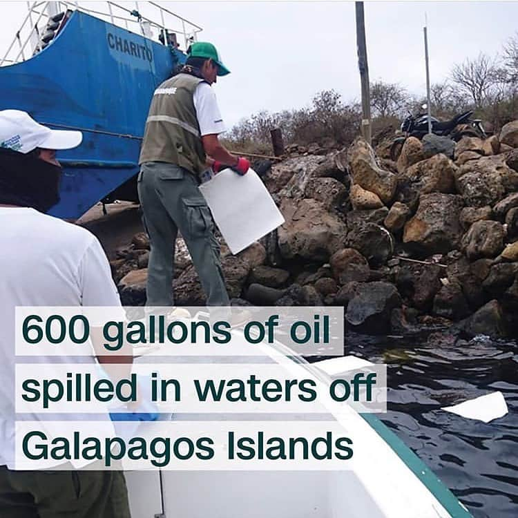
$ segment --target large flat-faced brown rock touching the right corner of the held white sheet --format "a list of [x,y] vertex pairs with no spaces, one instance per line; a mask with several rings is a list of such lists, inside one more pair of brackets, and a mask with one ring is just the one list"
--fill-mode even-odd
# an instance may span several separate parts
[[278,229],[278,245],[283,258],[327,261],[343,248],[347,226],[325,206],[307,198],[282,200],[280,211],[285,224]]

